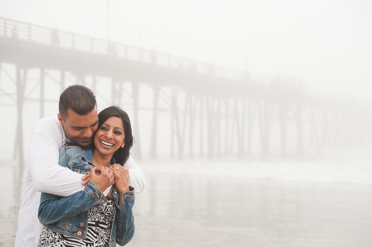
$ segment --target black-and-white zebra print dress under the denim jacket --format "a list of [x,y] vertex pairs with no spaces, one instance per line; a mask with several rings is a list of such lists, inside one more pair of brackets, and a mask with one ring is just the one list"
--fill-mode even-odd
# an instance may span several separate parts
[[44,226],[38,247],[107,247],[114,215],[113,200],[106,197],[102,206],[90,208],[88,211],[86,239],[66,236]]

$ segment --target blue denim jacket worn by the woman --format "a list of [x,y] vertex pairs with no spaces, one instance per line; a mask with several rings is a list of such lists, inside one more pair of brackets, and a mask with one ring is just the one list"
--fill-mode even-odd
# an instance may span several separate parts
[[[113,163],[114,163],[113,159]],[[93,167],[92,150],[83,150],[77,146],[68,146],[60,149],[59,165],[87,174]],[[135,200],[135,191],[130,187],[122,196],[119,207],[119,194],[113,189],[115,199],[115,216],[112,223],[109,246],[127,244],[135,233],[132,207]],[[85,189],[70,196],[63,197],[42,193],[38,217],[40,223],[49,229],[76,238],[86,238],[88,209],[102,205],[104,197],[98,187],[89,181]]]

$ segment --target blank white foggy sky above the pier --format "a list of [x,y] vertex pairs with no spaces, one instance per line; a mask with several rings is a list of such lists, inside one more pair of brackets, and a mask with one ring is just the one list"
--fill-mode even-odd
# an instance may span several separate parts
[[[0,0],[0,17],[107,38],[107,1]],[[314,88],[372,93],[372,1],[110,1],[110,39]]]

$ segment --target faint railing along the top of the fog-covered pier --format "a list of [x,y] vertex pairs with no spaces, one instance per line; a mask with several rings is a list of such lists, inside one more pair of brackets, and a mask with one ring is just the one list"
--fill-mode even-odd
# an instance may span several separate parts
[[22,41],[29,45],[39,44],[71,52],[101,54],[230,80],[264,84],[267,81],[244,71],[5,18],[0,18],[0,40],[4,43]]

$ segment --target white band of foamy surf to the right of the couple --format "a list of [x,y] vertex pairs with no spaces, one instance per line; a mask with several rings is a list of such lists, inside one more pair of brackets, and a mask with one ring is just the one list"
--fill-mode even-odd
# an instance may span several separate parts
[[188,173],[284,181],[372,183],[372,147],[329,151],[323,157],[289,160],[168,159],[140,162],[149,172]]

